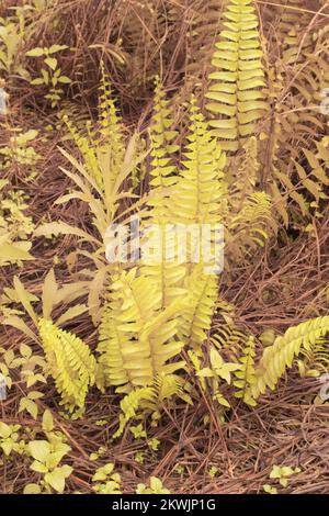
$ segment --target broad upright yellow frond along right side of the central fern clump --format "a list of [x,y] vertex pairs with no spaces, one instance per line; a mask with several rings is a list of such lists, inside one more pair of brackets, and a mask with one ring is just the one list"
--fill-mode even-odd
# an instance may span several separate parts
[[[190,132],[172,195],[173,222],[185,226],[195,225],[198,231],[209,225],[211,240],[215,240],[215,227],[226,214],[226,183],[223,169],[226,157],[216,139],[209,135],[207,123],[192,97]],[[191,237],[192,238],[192,237]],[[200,248],[197,263],[192,257],[192,239],[186,240],[186,272],[184,287],[191,301],[180,322],[180,337],[189,347],[200,349],[211,327],[217,299],[217,278],[206,271],[207,257]],[[194,245],[195,247],[195,245]],[[195,250],[195,249],[194,249]],[[217,257],[215,257],[215,260]],[[213,263],[214,265],[214,263]]]

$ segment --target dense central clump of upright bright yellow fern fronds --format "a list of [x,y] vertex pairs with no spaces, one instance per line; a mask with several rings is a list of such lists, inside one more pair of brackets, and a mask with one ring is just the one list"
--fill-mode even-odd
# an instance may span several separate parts
[[[154,124],[151,192],[146,221],[158,223],[161,231],[166,222],[200,225],[220,221],[225,206],[222,180],[225,156],[208,135],[195,100],[191,104],[191,134],[181,173],[173,176],[170,164],[175,133],[170,131],[170,109],[159,86]],[[185,362],[179,354],[184,345],[200,348],[205,338],[204,328],[211,327],[217,298],[216,278],[205,274],[198,289],[200,272],[207,263],[195,266],[190,254],[186,263],[177,260],[168,263],[164,248],[166,244],[159,261],[145,263],[141,259],[129,272],[118,273],[103,312],[99,351],[105,381],[116,385],[118,392],[129,392],[127,401],[122,402],[124,414],[116,435],[131,417],[127,405],[135,407],[135,414],[149,402],[149,396],[157,397],[161,375],[171,375],[172,383],[170,388],[164,384],[164,391],[162,388],[162,394],[158,394],[160,401],[173,394],[182,395],[175,372]],[[172,253],[178,259],[175,248]],[[155,410],[156,405],[152,406]]]

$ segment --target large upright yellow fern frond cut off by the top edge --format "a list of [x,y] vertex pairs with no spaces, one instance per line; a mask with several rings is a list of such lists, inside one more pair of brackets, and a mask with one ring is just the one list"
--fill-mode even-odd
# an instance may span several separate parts
[[206,108],[216,116],[209,125],[222,147],[236,152],[256,133],[256,122],[268,109],[266,83],[252,0],[230,0],[223,15],[225,29],[212,61],[216,71],[209,75]]

